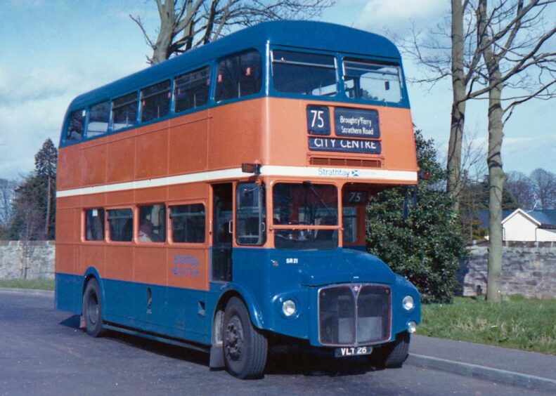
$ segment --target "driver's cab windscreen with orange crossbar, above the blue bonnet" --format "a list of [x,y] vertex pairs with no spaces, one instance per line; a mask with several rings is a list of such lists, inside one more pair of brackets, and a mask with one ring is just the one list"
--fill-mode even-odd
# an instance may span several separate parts
[[[276,248],[335,249],[338,246],[335,185],[277,183],[273,187],[273,205],[273,225],[280,226],[274,232]],[[304,228],[304,225],[321,227]]]

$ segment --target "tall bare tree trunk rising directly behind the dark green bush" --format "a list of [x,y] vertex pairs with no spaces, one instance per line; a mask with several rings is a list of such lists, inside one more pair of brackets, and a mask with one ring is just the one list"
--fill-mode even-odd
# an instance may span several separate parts
[[463,56],[463,6],[461,0],[452,0],[452,121],[448,141],[446,190],[458,209],[461,192],[460,169],[463,126],[465,124],[465,74]]

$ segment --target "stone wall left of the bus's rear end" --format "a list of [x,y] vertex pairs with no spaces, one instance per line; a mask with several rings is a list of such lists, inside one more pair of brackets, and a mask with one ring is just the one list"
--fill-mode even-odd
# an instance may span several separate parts
[[0,241],[0,279],[54,279],[54,241]]

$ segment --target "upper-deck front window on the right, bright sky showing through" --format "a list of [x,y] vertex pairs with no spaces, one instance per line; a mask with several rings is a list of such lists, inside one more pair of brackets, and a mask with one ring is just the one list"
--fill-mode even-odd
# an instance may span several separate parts
[[348,98],[391,103],[401,100],[400,70],[396,65],[345,58],[344,81]]

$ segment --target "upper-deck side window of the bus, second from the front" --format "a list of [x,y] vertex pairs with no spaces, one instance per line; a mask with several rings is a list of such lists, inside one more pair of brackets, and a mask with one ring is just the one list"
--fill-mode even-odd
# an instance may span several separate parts
[[174,80],[174,101],[176,113],[204,106],[209,99],[208,66],[193,72],[181,74]]

